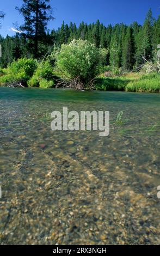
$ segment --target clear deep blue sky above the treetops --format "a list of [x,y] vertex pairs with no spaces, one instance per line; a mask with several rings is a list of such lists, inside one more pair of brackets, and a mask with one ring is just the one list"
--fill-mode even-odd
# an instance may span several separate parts
[[[16,6],[21,7],[22,2],[1,0],[0,11],[6,14],[0,30],[3,36],[15,33],[11,30],[14,22],[23,22],[19,12],[15,10]],[[81,21],[92,23],[97,19],[104,25],[120,22],[128,25],[133,21],[142,24],[149,8],[152,8],[153,17],[160,15],[159,0],[51,0],[51,6],[56,19],[48,24],[50,29],[60,27],[63,20],[65,23],[72,21],[77,25]]]

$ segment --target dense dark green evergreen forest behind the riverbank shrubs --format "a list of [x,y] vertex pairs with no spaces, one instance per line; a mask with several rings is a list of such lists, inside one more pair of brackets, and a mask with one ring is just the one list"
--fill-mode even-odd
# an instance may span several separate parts
[[[48,18],[50,19],[52,16]],[[42,59],[50,54],[54,47],[69,44],[73,39],[83,39],[94,43],[96,47],[107,48],[106,65],[111,68],[136,70],[145,60],[154,59],[157,45],[160,44],[160,16],[157,20],[154,19],[151,9],[142,26],[133,22],[130,26],[120,23],[106,27],[97,20],[90,25],[82,22],[79,27],[72,22],[70,25],[63,22],[59,29],[47,31],[46,25],[47,20],[41,26],[43,40],[36,41],[35,45],[32,44],[31,37],[27,37],[24,33],[16,33],[15,36],[6,36],[6,38],[0,35],[1,67],[7,67],[14,59],[25,56]],[[28,29],[24,26],[22,28]]]

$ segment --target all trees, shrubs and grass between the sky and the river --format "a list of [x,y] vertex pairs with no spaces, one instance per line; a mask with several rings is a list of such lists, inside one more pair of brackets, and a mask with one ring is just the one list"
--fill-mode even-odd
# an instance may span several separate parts
[[15,36],[0,35],[0,86],[159,92],[160,16],[150,9],[143,26],[63,22],[49,32],[48,2],[23,1],[16,8],[23,25]]

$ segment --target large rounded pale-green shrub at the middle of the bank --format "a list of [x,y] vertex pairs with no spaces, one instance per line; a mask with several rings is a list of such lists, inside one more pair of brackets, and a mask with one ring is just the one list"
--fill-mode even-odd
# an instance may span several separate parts
[[61,78],[76,89],[90,87],[100,74],[106,51],[102,51],[88,41],[73,40],[62,45],[56,55],[56,70]]

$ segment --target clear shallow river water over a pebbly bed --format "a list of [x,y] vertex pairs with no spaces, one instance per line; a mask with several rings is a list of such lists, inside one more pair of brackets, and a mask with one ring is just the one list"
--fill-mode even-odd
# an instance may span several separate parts
[[[110,111],[110,135],[51,131],[64,106]],[[0,88],[1,245],[159,244],[159,112],[159,94]]]

